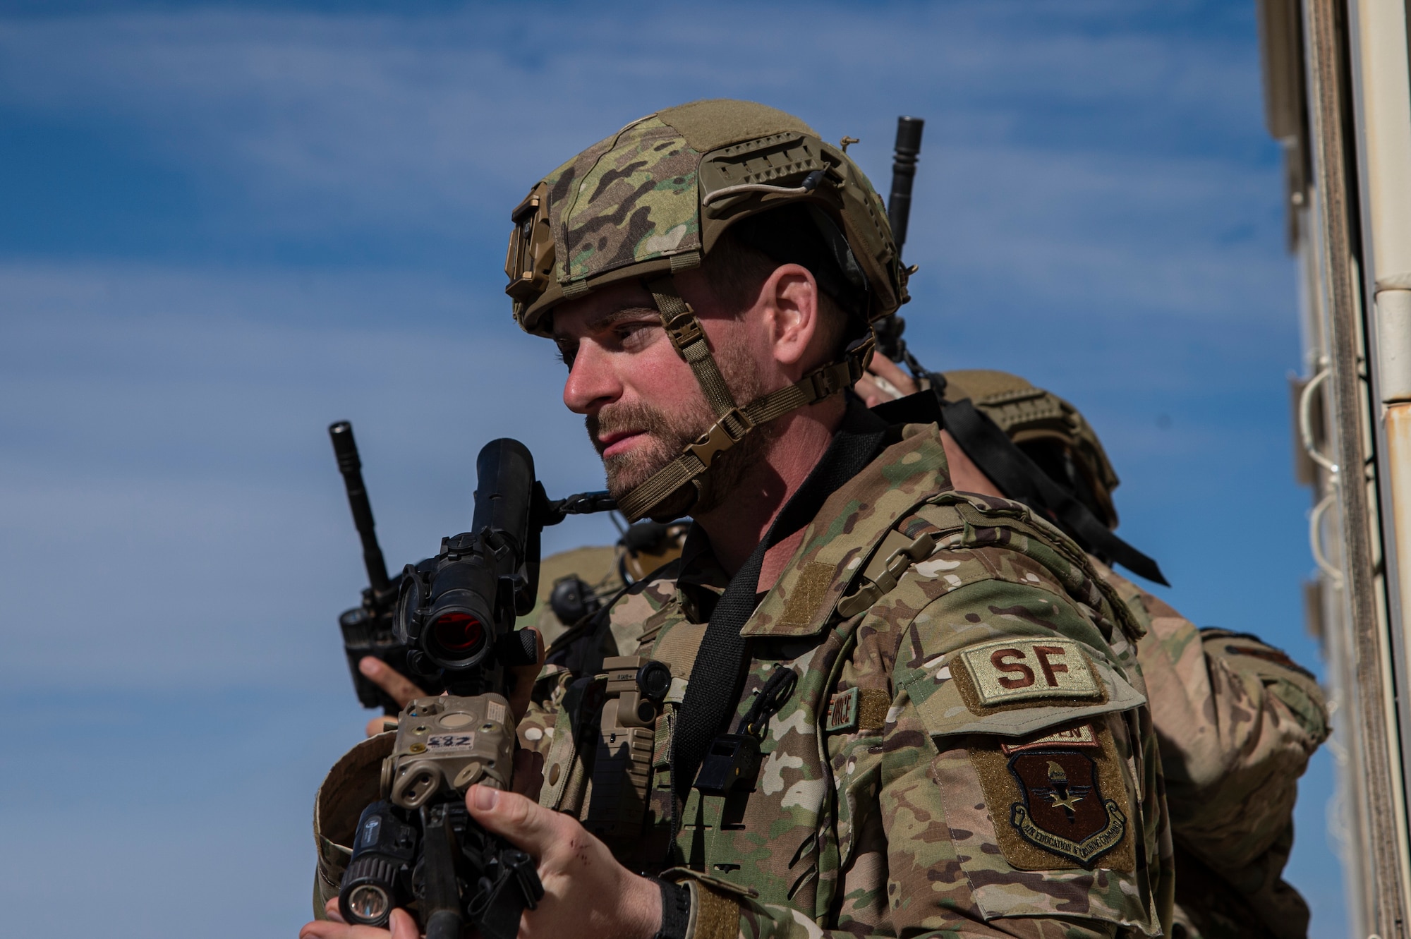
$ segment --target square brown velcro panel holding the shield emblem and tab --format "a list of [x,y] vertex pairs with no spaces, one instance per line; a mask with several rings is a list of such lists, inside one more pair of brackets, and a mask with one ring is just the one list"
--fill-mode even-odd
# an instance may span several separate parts
[[1013,867],[1134,870],[1127,790],[1106,726],[1003,743],[975,737],[971,763]]

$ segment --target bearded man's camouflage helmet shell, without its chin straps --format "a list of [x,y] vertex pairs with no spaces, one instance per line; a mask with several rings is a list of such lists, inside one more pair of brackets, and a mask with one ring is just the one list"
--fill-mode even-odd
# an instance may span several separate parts
[[512,216],[505,293],[521,327],[545,336],[562,300],[698,266],[729,226],[799,203],[831,221],[825,243],[841,233],[868,321],[909,299],[882,197],[856,164],[799,118],[728,99],[636,120],[535,185]]

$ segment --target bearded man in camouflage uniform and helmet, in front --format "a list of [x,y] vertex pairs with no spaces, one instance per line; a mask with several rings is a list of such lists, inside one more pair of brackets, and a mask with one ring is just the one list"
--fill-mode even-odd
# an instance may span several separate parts
[[[697,102],[564,164],[515,224],[515,316],[557,341],[618,505],[694,519],[611,606],[636,647],[563,694],[538,802],[467,797],[539,861],[521,935],[1168,932],[1143,625],[1057,527],[957,492],[934,422],[848,391],[906,300],[851,159]],[[322,830],[323,884],[344,837]]]

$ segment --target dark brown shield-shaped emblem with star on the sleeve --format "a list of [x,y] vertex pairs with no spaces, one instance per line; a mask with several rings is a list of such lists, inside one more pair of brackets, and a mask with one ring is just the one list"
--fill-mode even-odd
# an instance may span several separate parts
[[1009,760],[1022,802],[1010,806],[1010,825],[1031,845],[1086,869],[1122,843],[1127,819],[1102,798],[1098,767],[1078,750],[1030,750]]

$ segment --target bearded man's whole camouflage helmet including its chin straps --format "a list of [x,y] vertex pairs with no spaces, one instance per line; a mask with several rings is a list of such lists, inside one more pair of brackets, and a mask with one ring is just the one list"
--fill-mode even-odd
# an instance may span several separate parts
[[547,336],[557,303],[639,279],[715,412],[706,434],[619,501],[628,519],[650,515],[689,482],[698,488],[714,458],[753,427],[851,386],[866,368],[871,330],[841,361],[737,405],[677,293],[672,275],[700,266],[727,228],[785,206],[807,209],[797,217],[818,228],[814,240],[851,281],[849,296],[861,299],[849,306],[862,319],[871,324],[906,303],[906,271],[872,183],[841,148],[763,104],[694,102],[643,117],[549,173],[515,209],[505,293],[519,326]]

